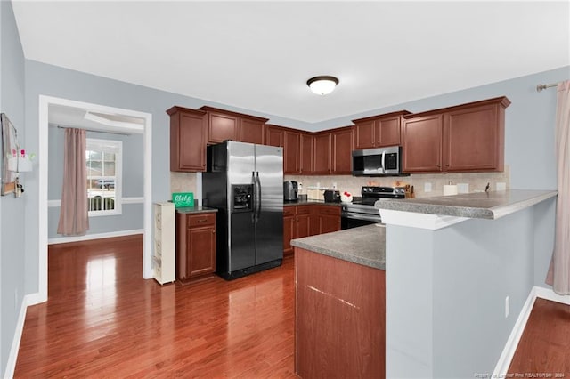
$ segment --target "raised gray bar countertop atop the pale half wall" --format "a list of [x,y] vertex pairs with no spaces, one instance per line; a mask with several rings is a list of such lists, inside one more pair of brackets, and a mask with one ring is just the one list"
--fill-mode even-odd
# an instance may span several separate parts
[[375,206],[380,214],[382,209],[387,209],[416,214],[495,220],[557,195],[556,190],[507,189],[433,198],[383,199],[377,201]]

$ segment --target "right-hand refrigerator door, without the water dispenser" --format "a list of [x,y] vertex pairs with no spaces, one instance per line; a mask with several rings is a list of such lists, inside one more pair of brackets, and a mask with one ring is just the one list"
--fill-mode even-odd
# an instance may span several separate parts
[[283,149],[256,145],[256,264],[283,258]]

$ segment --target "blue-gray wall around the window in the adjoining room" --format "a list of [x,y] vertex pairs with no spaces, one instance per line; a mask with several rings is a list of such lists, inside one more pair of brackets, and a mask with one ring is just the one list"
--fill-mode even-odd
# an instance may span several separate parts
[[[61,200],[63,181],[63,136],[64,129],[50,126],[48,133],[48,200]],[[87,138],[116,140],[123,142],[122,196],[142,198],[143,191],[143,145],[142,134],[119,135],[87,132]],[[120,230],[141,230],[143,228],[143,207],[141,204],[124,204],[122,214],[96,216],[89,219],[89,234],[110,233]],[[61,238],[57,234],[60,207],[53,206],[47,214],[47,237]]]

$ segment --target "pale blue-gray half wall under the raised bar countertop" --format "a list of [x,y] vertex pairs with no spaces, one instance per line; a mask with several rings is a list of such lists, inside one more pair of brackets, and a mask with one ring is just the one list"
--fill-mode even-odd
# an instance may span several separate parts
[[538,227],[555,201],[443,230],[387,225],[387,377],[493,373],[534,286]]

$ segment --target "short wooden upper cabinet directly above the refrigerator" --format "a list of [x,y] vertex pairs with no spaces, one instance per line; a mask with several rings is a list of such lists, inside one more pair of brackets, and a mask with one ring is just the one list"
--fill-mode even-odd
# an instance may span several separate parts
[[226,140],[260,143],[264,142],[264,125],[267,118],[244,115],[208,106],[201,107],[208,113],[208,143]]

